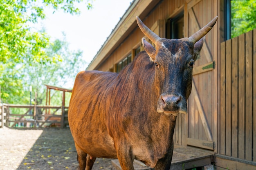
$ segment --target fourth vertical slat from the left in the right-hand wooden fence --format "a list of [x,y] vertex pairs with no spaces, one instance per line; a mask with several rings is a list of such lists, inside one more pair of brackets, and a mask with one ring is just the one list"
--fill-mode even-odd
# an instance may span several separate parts
[[245,35],[238,37],[238,157],[245,159]]

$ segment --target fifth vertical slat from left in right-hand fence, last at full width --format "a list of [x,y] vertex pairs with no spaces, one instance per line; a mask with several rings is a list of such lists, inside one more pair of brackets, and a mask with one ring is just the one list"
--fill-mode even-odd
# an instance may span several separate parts
[[245,34],[245,159],[252,161],[252,31]]

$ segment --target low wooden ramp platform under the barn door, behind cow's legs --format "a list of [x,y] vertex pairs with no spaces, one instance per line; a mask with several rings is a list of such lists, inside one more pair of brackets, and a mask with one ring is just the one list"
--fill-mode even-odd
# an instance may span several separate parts
[[[191,146],[174,145],[173,159],[170,170],[186,170],[195,167],[210,165],[214,162],[214,152],[195,148]],[[112,160],[112,165],[117,170],[122,170],[117,159]],[[133,162],[135,170],[152,170],[144,163],[135,160]]]

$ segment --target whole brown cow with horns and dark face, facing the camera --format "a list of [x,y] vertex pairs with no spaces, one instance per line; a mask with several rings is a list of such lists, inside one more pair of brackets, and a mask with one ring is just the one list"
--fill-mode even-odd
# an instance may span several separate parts
[[169,170],[173,131],[179,113],[187,113],[192,68],[206,35],[218,17],[189,38],[158,37],[137,17],[144,38],[140,52],[121,72],[83,71],[76,76],[68,120],[80,170],[96,157],[118,158],[134,170],[137,159]]

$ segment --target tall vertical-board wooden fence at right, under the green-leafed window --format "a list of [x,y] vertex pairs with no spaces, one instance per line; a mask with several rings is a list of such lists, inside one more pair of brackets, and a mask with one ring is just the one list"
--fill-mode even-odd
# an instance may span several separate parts
[[256,30],[220,45],[219,153],[256,161]]

